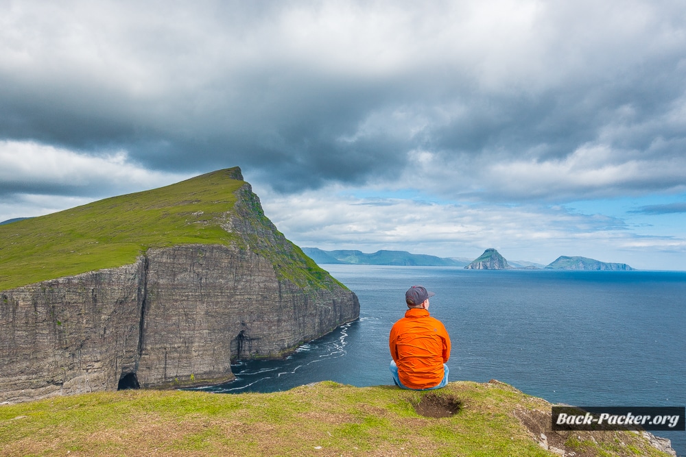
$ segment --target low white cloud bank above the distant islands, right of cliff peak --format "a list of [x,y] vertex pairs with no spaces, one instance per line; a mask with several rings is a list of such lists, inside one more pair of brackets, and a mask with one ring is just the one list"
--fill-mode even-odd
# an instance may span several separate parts
[[475,257],[487,247],[499,246],[521,256],[541,257],[556,244],[573,245],[589,237],[623,243],[630,236],[622,221],[560,207],[357,198],[340,188],[290,196],[263,193],[261,201],[287,237],[322,249],[399,249]]

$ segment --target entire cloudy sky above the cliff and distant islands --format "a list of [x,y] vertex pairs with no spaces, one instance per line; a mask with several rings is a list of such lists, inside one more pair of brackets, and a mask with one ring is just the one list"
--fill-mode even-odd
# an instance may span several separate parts
[[303,247],[686,270],[682,0],[0,8],[0,221],[241,166]]

